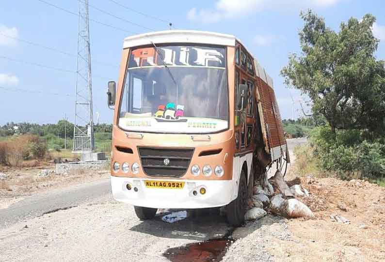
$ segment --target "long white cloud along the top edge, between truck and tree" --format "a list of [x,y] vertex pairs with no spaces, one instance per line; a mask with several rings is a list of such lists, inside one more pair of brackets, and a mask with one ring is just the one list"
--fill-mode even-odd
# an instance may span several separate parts
[[236,18],[261,12],[266,9],[287,10],[288,8],[329,7],[343,0],[217,0],[214,9],[200,9],[195,7],[187,13],[191,21],[215,23],[223,19]]

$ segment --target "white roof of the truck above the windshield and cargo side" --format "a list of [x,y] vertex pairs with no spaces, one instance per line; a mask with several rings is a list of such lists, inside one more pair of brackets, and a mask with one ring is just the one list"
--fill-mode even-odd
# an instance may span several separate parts
[[[134,46],[152,43],[196,43],[235,46],[236,41],[241,43],[239,39],[237,39],[234,35],[230,34],[196,30],[165,30],[128,36],[124,39],[123,48],[130,48]],[[251,52],[247,52],[252,55]],[[264,80],[270,87],[273,87],[273,79],[265,72],[264,68],[258,63],[257,58],[254,57],[254,60],[257,75],[262,80]]]

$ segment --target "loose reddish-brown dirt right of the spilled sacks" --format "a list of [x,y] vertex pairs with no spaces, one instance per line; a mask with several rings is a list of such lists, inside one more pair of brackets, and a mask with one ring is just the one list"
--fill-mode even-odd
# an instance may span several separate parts
[[[298,180],[298,179],[297,179]],[[275,261],[385,261],[385,188],[363,180],[301,179],[315,219],[289,219],[291,239],[272,238]],[[349,223],[335,222],[340,215]]]

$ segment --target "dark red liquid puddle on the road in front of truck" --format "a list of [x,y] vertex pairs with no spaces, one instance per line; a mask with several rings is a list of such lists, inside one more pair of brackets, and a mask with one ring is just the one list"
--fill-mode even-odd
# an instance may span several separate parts
[[219,262],[233,242],[231,238],[213,239],[169,248],[163,256],[171,262]]

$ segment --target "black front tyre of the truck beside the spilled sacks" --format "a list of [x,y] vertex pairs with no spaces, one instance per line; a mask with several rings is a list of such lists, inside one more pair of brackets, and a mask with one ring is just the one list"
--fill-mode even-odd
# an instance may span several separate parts
[[226,218],[230,225],[241,226],[244,223],[245,207],[247,202],[247,185],[246,175],[241,172],[240,182],[238,185],[238,196],[230,204],[226,206]]

